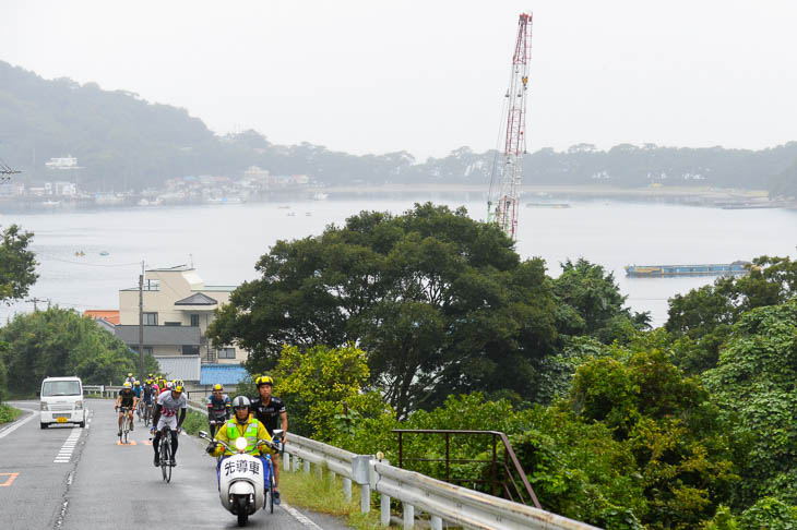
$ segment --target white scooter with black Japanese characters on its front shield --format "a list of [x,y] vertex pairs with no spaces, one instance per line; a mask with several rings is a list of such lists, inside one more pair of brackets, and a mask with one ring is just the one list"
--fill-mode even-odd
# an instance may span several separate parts
[[[282,434],[282,431],[274,431],[274,435]],[[221,444],[227,450],[233,453],[222,460],[218,469],[218,497],[222,505],[231,514],[238,516],[238,526],[242,527],[247,523],[249,516],[265,506],[266,493],[271,505],[271,511],[274,511],[274,470],[263,469],[263,461],[246,454],[247,438],[239,436],[235,441],[235,447],[230,447],[222,441],[211,438],[206,432],[200,431],[199,436],[216,444]],[[258,447],[261,445],[278,449],[278,444],[269,442],[267,439],[259,439]],[[269,475],[267,491],[263,486],[263,473]]]

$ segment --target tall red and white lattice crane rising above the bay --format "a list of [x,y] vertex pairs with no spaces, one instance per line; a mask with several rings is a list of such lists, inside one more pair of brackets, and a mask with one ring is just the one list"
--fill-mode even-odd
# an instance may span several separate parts
[[498,225],[512,240],[518,239],[521,157],[526,153],[526,96],[531,59],[532,14],[521,13],[512,56],[512,75],[504,97],[499,132],[499,141],[503,138],[503,157],[499,165],[496,155],[487,198],[487,221]]

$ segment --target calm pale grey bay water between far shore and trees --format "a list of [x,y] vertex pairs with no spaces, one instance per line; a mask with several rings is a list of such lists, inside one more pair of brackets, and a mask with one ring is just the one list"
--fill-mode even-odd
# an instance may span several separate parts
[[[483,202],[436,201],[486,217]],[[136,207],[0,215],[35,233],[39,279],[27,300],[80,312],[118,309],[119,290],[138,286],[146,268],[191,265],[205,285],[254,279],[258,258],[277,240],[320,234],[360,210],[401,214],[414,201],[307,201],[185,207]],[[655,326],[667,300],[710,284],[712,277],[628,278],[624,265],[730,263],[768,255],[797,256],[797,210],[682,206],[617,201],[571,202],[570,208],[526,208],[519,216],[521,257],[543,257],[552,276],[560,263],[584,257],[615,275],[627,304],[650,311]],[[79,255],[75,255],[78,253]],[[82,253],[82,255],[80,255]],[[22,301],[0,308],[0,318],[34,309]]]

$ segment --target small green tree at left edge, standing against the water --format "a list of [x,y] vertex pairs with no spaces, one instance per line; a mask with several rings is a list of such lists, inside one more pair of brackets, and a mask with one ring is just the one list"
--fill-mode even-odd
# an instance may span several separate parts
[[33,238],[31,232],[21,232],[11,225],[2,232],[0,242],[0,301],[19,300],[36,282],[36,257],[27,250]]

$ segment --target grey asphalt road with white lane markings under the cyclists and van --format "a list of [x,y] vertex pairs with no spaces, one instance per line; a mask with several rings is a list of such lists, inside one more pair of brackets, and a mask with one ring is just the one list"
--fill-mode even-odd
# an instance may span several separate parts
[[[166,483],[160,469],[153,466],[150,433],[143,423],[136,420],[131,443],[119,445],[114,401],[91,399],[87,403],[86,429],[57,425],[46,430],[39,429],[37,401],[12,403],[25,414],[0,430],[4,528],[238,528],[235,516],[218,499],[215,459],[204,453],[203,441],[180,436],[178,466]],[[250,516],[248,528],[347,527],[323,515],[275,506],[273,514],[260,510]]]

